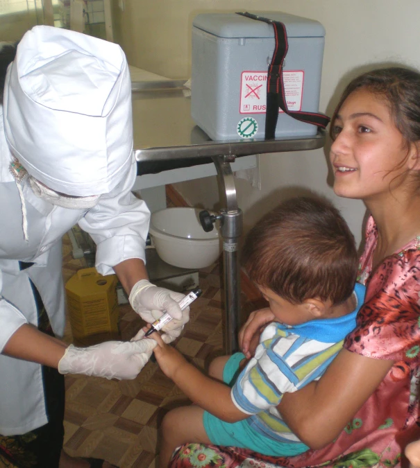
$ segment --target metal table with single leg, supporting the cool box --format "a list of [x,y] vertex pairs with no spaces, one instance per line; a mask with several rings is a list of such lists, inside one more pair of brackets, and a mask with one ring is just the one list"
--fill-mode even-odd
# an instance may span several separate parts
[[137,173],[142,163],[174,162],[176,159],[199,161],[211,157],[217,169],[221,203],[220,229],[223,240],[225,296],[225,352],[237,351],[240,316],[239,240],[242,211],[237,206],[235,180],[230,163],[235,158],[286,151],[314,150],[324,146],[324,132],[299,139],[238,139],[212,141],[191,119],[190,98],[185,97],[183,81],[133,83],[133,128]]

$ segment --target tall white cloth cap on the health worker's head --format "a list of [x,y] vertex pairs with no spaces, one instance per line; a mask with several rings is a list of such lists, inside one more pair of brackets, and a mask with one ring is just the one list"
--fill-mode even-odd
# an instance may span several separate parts
[[35,26],[8,68],[3,114],[12,153],[55,191],[108,193],[133,161],[130,73],[112,42]]

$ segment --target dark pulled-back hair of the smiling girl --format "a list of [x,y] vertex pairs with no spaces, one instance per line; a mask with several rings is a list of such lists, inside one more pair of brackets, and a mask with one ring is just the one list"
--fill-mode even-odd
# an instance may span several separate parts
[[331,119],[332,139],[336,137],[334,123],[337,113],[346,98],[358,89],[366,89],[385,100],[406,144],[420,140],[420,73],[403,67],[368,71],[347,85]]

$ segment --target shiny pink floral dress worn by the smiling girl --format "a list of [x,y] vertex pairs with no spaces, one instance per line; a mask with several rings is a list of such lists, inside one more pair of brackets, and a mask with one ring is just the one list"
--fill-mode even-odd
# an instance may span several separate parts
[[372,272],[378,231],[370,218],[358,281],[367,286],[357,327],[344,347],[370,358],[395,361],[371,397],[335,442],[293,458],[246,449],[186,444],[171,468],[405,467],[405,445],[420,437],[420,236]]

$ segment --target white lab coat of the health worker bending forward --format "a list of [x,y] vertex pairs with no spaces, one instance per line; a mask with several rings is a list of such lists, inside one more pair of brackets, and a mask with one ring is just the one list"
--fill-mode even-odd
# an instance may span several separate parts
[[[87,211],[53,206],[37,198],[25,181],[26,243],[22,204],[16,184],[8,174],[10,155],[1,117],[0,112],[0,352],[22,324],[37,325],[29,278],[40,292],[54,333],[62,336],[65,326],[61,275],[63,234],[78,223],[97,245],[96,269],[102,275],[109,275],[113,266],[126,259],[144,261],[150,216],[145,203],[131,193],[136,176],[134,161],[126,179]],[[18,261],[35,264],[19,271]],[[0,355],[0,434],[22,434],[46,423],[41,366]]]

